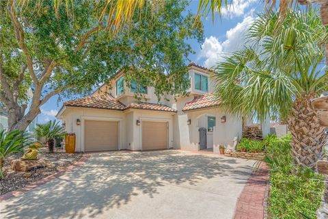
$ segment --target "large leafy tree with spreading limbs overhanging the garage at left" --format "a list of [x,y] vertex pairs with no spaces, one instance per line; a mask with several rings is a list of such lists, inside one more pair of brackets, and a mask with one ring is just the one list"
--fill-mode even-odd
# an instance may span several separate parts
[[185,12],[186,1],[167,1],[156,16],[152,7],[135,8],[119,31],[108,25],[106,1],[75,1],[70,13],[56,2],[0,3],[0,101],[10,130],[26,129],[51,96],[87,94],[120,68],[159,96],[184,92],[193,52],[186,39],[203,40],[202,23]]

